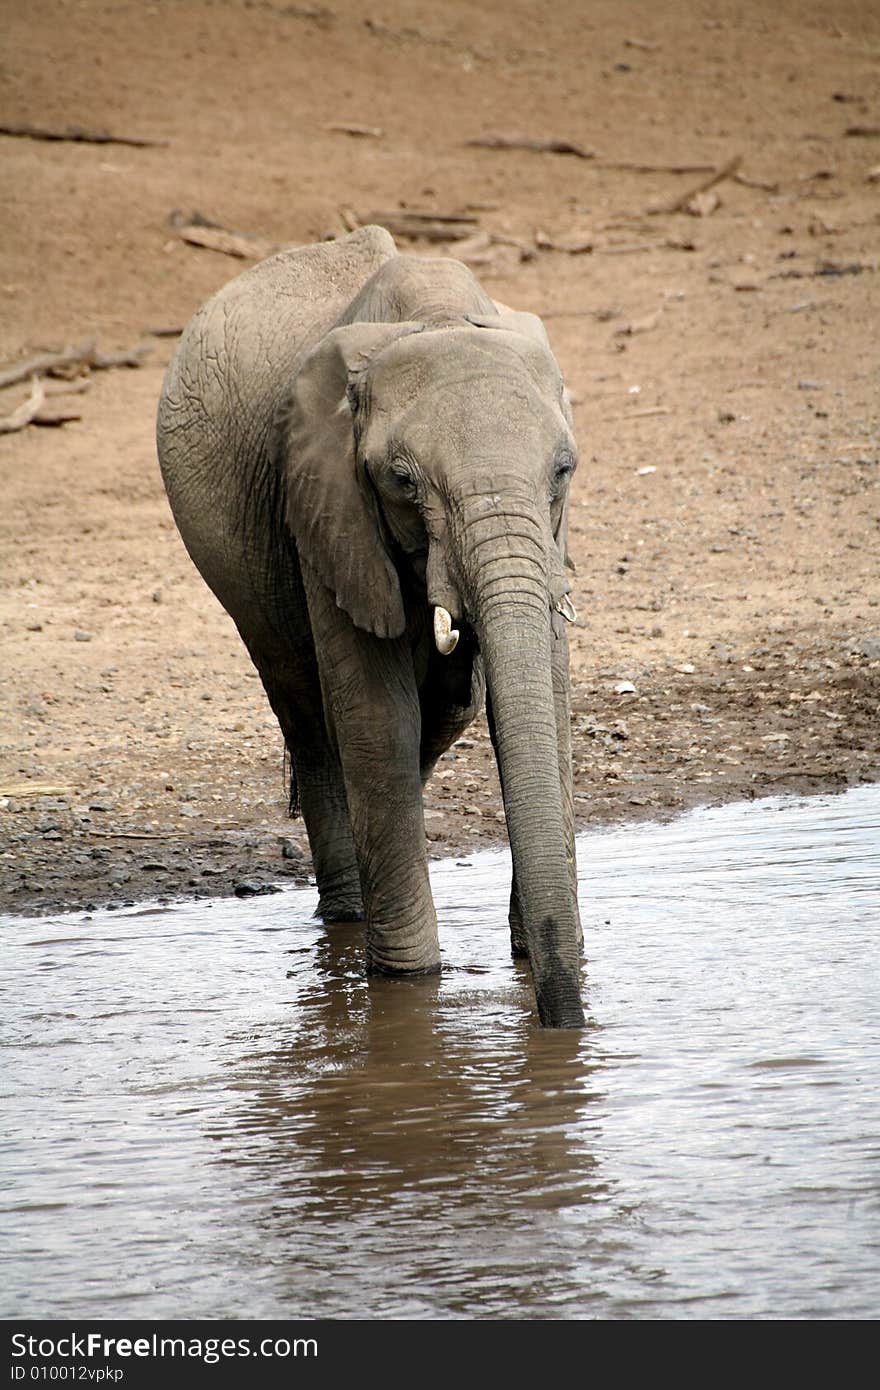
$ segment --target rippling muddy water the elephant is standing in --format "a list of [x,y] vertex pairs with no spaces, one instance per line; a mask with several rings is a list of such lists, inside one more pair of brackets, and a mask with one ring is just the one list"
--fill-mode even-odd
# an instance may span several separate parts
[[505,856],[446,969],[314,894],[3,922],[0,1315],[872,1318],[880,788],[581,840],[589,1029]]

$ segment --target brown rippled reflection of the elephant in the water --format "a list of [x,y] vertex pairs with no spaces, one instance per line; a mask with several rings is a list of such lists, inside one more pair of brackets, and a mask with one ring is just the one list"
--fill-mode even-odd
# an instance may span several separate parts
[[523,966],[468,998],[464,972],[462,990],[452,974],[367,986],[360,951],[353,927],[320,941],[289,1022],[257,1055],[242,1048],[250,1097],[217,1136],[236,1188],[267,1194],[261,1241],[298,1298],[316,1268],[367,1282],[374,1261],[370,1277],[400,1287],[420,1269],[491,1264],[505,1243],[516,1264],[523,1227],[608,1195],[591,1152],[592,1033],[531,1027]]

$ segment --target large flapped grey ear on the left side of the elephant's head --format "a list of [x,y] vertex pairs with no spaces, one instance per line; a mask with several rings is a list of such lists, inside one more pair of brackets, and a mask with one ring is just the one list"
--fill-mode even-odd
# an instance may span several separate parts
[[406,626],[382,520],[359,477],[352,386],[370,361],[420,324],[348,324],[321,339],[293,377],[279,417],[286,521],[300,560],[336,595],[336,606],[375,637]]

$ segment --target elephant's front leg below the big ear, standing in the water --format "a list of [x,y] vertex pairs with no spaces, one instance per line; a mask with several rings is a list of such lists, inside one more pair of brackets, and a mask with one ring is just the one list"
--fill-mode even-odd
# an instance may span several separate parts
[[421,719],[407,642],[371,637],[317,580],[309,610],[367,923],[367,969],[439,969],[420,778]]

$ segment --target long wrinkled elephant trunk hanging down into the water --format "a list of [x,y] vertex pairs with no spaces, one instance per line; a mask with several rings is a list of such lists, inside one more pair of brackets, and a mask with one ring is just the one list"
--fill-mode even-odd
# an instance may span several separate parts
[[551,670],[545,531],[530,509],[471,517],[468,607],[492,706],[523,930],[545,1027],[582,1027],[580,922],[567,855]]

